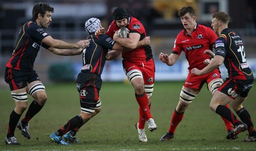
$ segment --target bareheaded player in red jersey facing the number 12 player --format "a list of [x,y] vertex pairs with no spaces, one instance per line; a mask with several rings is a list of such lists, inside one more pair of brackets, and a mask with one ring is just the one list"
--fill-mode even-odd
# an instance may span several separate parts
[[[191,6],[181,8],[179,16],[184,29],[177,35],[170,56],[161,52],[159,60],[166,63],[166,65],[172,66],[178,60],[180,53],[184,51],[189,63],[189,73],[180,91],[179,103],[173,112],[169,130],[160,138],[160,141],[168,141],[174,138],[175,130],[181,122],[185,110],[200,92],[204,83],[207,83],[207,88],[211,91],[212,95],[223,83],[218,68],[202,76],[191,74],[192,68],[202,69],[206,66],[205,63],[207,63],[210,57],[207,54],[203,54],[203,52],[205,49],[212,49],[214,47],[214,42],[218,36],[211,28],[196,23],[195,10]],[[232,131],[232,123],[228,122],[225,118],[222,119],[225,122],[227,131]]]

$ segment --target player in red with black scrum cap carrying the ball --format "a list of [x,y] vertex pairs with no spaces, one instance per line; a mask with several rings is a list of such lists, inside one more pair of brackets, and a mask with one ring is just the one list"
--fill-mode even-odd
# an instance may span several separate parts
[[[145,122],[148,129],[154,131],[157,125],[150,113],[150,99],[154,89],[155,64],[150,45],[143,45],[141,41],[147,37],[145,28],[141,22],[127,13],[124,8],[116,8],[113,12],[113,22],[111,22],[107,35],[131,51],[123,51],[123,67],[124,72],[131,82],[135,90],[135,98],[140,106],[140,117],[136,123],[138,129],[139,140],[147,142],[145,134]],[[128,38],[120,38],[116,31],[125,27],[130,33]],[[113,55],[115,51],[110,51],[109,55]],[[120,51],[119,51],[120,52]],[[115,56],[115,55],[113,55]]]

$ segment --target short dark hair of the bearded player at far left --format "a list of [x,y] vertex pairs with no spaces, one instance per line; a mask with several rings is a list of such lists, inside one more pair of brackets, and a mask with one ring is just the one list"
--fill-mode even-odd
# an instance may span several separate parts
[[51,7],[48,3],[36,3],[33,7],[33,11],[32,11],[32,18],[33,19],[37,19],[38,13],[42,14],[42,17],[44,17],[45,12],[54,12],[54,8]]

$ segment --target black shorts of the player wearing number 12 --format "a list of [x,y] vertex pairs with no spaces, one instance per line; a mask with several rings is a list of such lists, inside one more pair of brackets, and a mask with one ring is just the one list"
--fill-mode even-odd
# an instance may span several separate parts
[[225,93],[231,99],[236,99],[238,96],[247,97],[248,92],[253,86],[253,79],[247,80],[234,80],[228,78],[221,86],[218,91]]

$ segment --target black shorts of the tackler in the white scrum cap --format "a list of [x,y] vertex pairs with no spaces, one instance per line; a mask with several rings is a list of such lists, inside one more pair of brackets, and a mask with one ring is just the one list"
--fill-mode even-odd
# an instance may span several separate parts
[[99,75],[91,72],[80,72],[76,79],[77,91],[80,94],[80,100],[88,103],[97,103],[102,80]]

